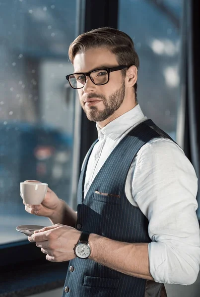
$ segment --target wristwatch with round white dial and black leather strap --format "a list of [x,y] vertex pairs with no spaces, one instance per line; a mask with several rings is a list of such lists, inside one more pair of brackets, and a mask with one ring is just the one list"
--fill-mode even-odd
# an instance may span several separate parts
[[91,248],[88,244],[89,235],[89,232],[83,231],[81,233],[79,241],[74,247],[74,253],[80,259],[87,259],[91,254]]

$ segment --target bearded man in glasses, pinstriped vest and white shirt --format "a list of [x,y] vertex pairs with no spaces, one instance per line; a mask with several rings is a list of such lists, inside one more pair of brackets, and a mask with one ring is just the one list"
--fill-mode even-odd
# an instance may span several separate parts
[[49,261],[69,262],[63,296],[166,296],[163,283],[190,285],[200,266],[197,176],[183,150],[136,99],[139,59],[131,38],[111,28],[69,47],[77,89],[98,141],[83,162],[77,213],[48,189],[26,211],[53,226],[35,232]]

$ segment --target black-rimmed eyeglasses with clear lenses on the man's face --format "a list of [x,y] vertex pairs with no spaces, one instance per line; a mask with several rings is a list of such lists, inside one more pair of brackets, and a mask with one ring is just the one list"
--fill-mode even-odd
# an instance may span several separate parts
[[73,73],[66,75],[66,79],[69,82],[69,85],[73,89],[81,89],[86,83],[86,78],[89,76],[91,81],[97,85],[105,85],[109,82],[109,73],[113,71],[122,70],[128,66],[120,65],[112,68],[100,68],[95,69],[89,72]]

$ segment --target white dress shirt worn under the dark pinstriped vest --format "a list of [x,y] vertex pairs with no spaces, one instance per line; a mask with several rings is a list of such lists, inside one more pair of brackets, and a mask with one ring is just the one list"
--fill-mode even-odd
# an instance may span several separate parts
[[[112,150],[146,119],[137,104],[102,129],[97,126],[99,141],[88,160],[84,197]],[[171,140],[153,139],[136,154],[125,193],[149,221],[148,234],[152,240],[148,244],[149,270],[155,282],[190,285],[197,279],[200,269],[197,189],[193,165]]]

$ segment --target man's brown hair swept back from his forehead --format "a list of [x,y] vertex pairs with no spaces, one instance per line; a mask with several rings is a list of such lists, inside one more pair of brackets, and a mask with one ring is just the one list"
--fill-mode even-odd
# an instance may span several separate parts
[[[120,30],[109,27],[94,29],[79,35],[69,46],[68,55],[71,63],[73,64],[74,57],[79,51],[85,52],[87,49],[97,47],[108,48],[116,55],[119,65],[129,67],[134,65],[138,69],[139,57],[131,37]],[[125,76],[126,69],[123,69],[122,72]],[[137,83],[133,88],[136,100]]]

